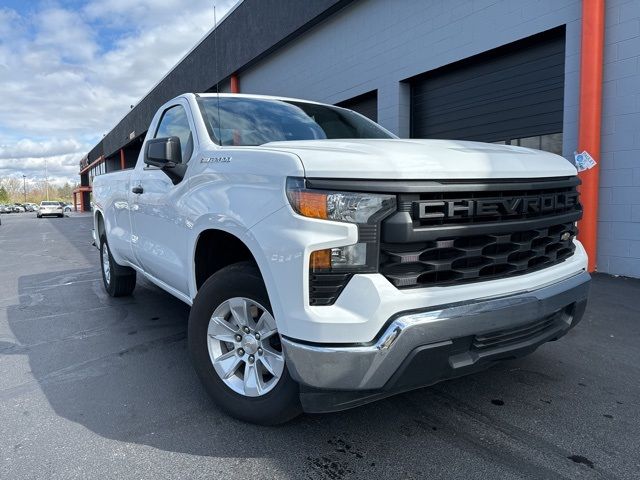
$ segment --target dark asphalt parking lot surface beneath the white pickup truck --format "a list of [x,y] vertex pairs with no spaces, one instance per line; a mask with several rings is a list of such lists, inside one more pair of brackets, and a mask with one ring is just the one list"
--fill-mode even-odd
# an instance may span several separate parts
[[281,427],[209,401],[188,307],[102,289],[91,218],[3,215],[0,478],[639,478],[640,281],[484,373]]

